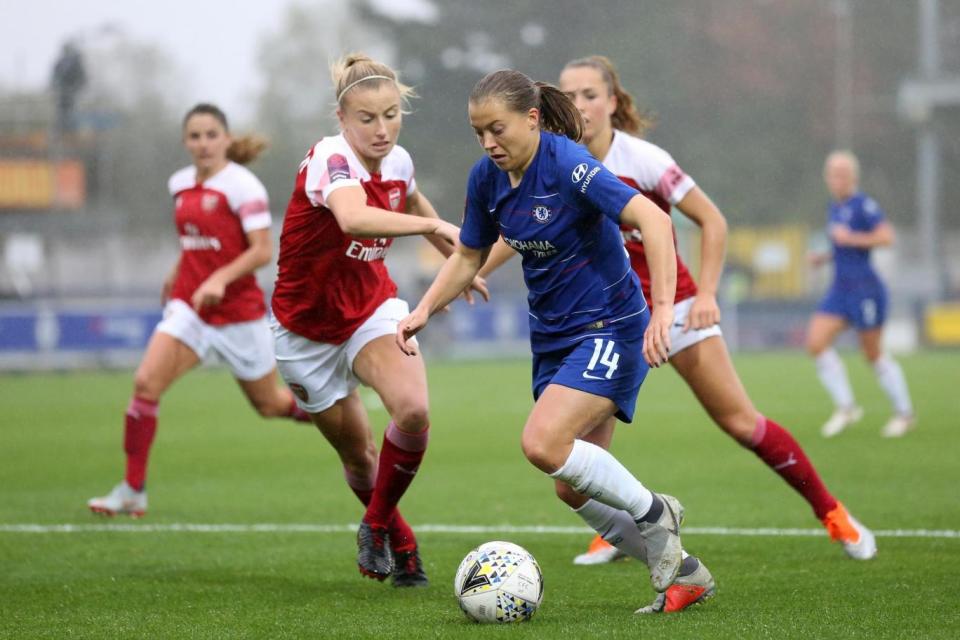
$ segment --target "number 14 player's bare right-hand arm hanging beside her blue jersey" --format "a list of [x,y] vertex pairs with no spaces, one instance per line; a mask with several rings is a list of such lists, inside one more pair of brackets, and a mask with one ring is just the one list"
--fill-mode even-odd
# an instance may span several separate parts
[[650,295],[653,311],[643,334],[643,357],[651,367],[667,362],[670,354],[670,326],[673,299],[677,292],[677,254],[673,248],[670,216],[640,194],[627,202],[620,222],[639,229],[650,268]]

